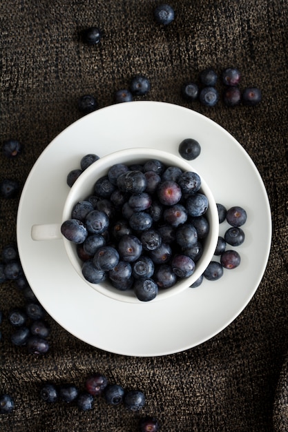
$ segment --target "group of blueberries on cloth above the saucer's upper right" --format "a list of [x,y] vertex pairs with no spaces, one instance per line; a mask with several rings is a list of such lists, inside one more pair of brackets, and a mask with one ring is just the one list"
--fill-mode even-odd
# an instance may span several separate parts
[[[221,73],[222,97],[226,106],[237,106],[240,103],[246,106],[256,106],[262,99],[261,90],[258,87],[246,87],[242,91],[239,84],[241,73],[237,68],[225,68]],[[199,100],[204,106],[215,106],[219,99],[219,90],[216,88],[218,74],[212,68],[200,71],[200,84],[189,81],[183,84],[181,93],[184,99],[189,101]]]

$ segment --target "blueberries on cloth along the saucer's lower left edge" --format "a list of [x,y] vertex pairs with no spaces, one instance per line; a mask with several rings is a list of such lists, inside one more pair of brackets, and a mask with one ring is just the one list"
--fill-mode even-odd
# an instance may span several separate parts
[[26,297],[25,306],[15,306],[8,312],[8,322],[13,328],[10,340],[16,346],[26,346],[28,353],[44,354],[49,349],[47,337],[50,326],[45,320],[46,311],[32,293],[23,274],[15,244],[5,246],[1,258],[0,283],[15,282]]

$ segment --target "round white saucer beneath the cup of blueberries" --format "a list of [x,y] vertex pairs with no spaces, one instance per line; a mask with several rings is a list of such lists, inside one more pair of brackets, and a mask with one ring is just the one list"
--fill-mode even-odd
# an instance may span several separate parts
[[[202,148],[191,165],[209,184],[215,201],[247,210],[242,261],[216,282],[160,302],[117,302],[90,288],[71,266],[61,240],[35,242],[33,224],[59,222],[68,194],[66,176],[81,157],[121,148],[151,147],[177,155],[184,138]],[[226,225],[220,225],[224,234]],[[80,340],[121,355],[157,356],[209,340],[247,306],[265,272],[271,245],[271,213],[262,179],[245,150],[221,126],[197,112],[162,102],[135,101],[86,115],[44,150],[23,188],[17,217],[19,255],[39,302]]]

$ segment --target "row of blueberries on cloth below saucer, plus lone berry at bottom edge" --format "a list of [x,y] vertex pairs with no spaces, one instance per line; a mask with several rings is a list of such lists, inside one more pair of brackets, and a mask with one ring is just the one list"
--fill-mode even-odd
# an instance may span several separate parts
[[[146,402],[144,393],[140,390],[126,391],[119,384],[111,384],[102,373],[93,373],[86,378],[84,389],[79,389],[75,384],[52,384],[46,382],[40,388],[41,400],[49,403],[66,402],[75,404],[81,411],[89,411],[95,406],[97,397],[104,397],[107,404],[118,406],[124,404],[129,411],[140,411]],[[158,429],[147,429],[158,427],[157,420],[153,417],[146,417],[140,420],[141,431],[157,431]],[[143,429],[146,427],[146,429]]]

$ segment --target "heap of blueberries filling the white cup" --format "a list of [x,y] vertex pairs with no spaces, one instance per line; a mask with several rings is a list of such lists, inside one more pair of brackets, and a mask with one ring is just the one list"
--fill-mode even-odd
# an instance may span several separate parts
[[151,159],[115,164],[92,186],[61,226],[88,282],[133,288],[147,302],[193,274],[209,232],[198,174]]

